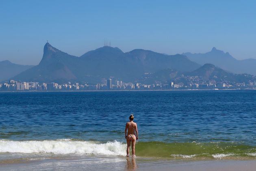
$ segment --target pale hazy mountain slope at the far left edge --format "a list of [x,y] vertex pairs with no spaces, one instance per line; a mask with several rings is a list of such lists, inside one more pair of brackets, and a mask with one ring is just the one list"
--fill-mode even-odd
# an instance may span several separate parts
[[32,68],[32,65],[13,64],[9,60],[0,62],[0,81],[7,80],[15,75]]

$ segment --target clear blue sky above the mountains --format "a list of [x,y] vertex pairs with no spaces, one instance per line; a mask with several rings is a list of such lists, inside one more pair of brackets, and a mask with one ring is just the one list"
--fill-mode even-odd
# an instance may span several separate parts
[[0,61],[38,64],[46,40],[75,56],[104,38],[127,52],[204,53],[213,46],[236,59],[256,58],[253,0],[4,0]]

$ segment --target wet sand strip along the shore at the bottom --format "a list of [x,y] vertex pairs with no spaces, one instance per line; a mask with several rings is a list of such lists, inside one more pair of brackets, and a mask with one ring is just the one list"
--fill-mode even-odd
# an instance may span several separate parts
[[82,171],[82,170],[123,170],[123,171],[254,171],[255,160],[162,160],[152,158],[126,158],[108,156],[70,156],[59,159],[26,160],[27,162],[1,163],[4,171]]

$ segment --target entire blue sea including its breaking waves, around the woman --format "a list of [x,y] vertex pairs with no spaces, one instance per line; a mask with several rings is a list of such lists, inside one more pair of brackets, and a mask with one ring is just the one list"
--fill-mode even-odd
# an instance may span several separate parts
[[131,113],[137,158],[256,159],[254,90],[1,92],[0,164],[126,160]]

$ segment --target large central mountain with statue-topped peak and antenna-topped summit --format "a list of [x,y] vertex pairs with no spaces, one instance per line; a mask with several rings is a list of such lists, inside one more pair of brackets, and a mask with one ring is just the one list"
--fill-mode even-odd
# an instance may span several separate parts
[[13,79],[37,82],[99,83],[102,79],[114,77],[123,81],[134,81],[144,73],[154,73],[165,68],[193,71],[198,67],[200,67],[199,64],[180,54],[171,56],[143,49],[124,53],[117,47],[104,46],[76,57],[46,43],[41,62]]

